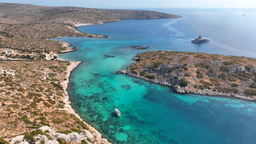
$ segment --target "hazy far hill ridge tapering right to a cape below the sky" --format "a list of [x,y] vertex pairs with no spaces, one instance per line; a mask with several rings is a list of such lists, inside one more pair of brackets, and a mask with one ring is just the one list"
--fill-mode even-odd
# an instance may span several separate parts
[[108,10],[82,7],[43,7],[28,4],[0,3],[1,23],[102,23],[120,19],[166,19],[173,14],[146,10]]

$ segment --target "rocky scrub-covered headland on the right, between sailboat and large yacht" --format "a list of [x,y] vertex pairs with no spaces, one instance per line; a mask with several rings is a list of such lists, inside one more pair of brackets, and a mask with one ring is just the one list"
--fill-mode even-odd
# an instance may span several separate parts
[[181,93],[256,101],[256,59],[193,52],[144,52],[128,74]]

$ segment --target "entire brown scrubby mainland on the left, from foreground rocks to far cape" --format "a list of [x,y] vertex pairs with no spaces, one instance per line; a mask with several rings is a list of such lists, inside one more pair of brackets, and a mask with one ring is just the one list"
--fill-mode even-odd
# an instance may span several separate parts
[[67,83],[79,62],[60,61],[56,53],[73,49],[49,39],[105,38],[76,28],[176,17],[156,11],[0,3],[0,143],[109,143],[70,106]]

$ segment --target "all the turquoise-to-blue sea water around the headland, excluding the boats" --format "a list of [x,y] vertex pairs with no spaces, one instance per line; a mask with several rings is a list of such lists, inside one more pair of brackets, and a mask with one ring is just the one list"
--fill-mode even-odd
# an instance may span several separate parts
[[[70,77],[72,107],[112,143],[256,143],[255,102],[178,94],[115,74],[135,62],[138,53],[151,50],[256,58],[256,10],[153,10],[183,18],[84,26],[79,30],[109,37],[58,39],[78,48],[62,58],[83,62]],[[191,43],[200,34],[209,43]],[[114,113],[116,99],[121,118]]]

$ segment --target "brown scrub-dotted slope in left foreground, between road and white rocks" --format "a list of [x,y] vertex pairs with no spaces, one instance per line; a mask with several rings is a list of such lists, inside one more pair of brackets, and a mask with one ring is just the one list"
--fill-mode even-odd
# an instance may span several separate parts
[[88,129],[64,110],[64,61],[2,61],[0,74],[0,136],[10,138],[43,125],[61,133]]

